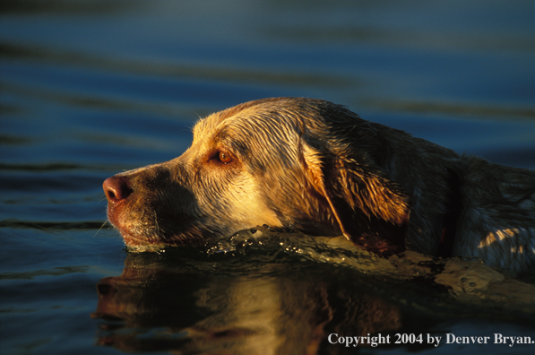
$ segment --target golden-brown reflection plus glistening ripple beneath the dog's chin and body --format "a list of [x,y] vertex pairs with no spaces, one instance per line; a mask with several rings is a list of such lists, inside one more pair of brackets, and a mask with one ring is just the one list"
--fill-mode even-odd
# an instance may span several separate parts
[[[343,353],[354,349],[330,334],[393,339],[444,335],[455,319],[528,327],[535,319],[535,285],[479,261],[414,252],[384,259],[344,238],[268,227],[205,247],[129,253],[123,274],[97,290],[99,344],[123,351]],[[389,343],[382,348],[432,346]]]

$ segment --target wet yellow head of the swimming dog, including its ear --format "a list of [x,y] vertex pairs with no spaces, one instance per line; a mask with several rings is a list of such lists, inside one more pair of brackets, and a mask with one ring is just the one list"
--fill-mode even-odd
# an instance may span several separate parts
[[[247,102],[199,121],[177,159],[109,177],[108,219],[131,247],[267,224],[399,250],[409,198],[379,169],[379,135],[324,100]],[[376,231],[390,241],[370,245]]]

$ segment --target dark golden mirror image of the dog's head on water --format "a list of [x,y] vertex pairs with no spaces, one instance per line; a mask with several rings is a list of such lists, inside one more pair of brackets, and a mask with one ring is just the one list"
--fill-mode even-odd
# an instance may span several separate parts
[[401,327],[398,307],[354,282],[346,288],[328,274],[262,267],[229,276],[129,255],[122,275],[98,284],[92,314],[103,320],[98,342],[123,351],[315,354],[324,347],[337,353],[343,345],[327,342],[330,333]]

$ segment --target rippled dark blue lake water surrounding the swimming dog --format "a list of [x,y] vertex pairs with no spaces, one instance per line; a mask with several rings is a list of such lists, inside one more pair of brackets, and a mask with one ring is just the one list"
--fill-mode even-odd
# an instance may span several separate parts
[[[298,253],[127,253],[101,184],[180,155],[198,117],[275,96],[535,169],[533,13],[527,0],[4,0],[0,353],[532,353],[444,342],[535,340],[534,319]],[[331,333],[444,340],[345,348]]]

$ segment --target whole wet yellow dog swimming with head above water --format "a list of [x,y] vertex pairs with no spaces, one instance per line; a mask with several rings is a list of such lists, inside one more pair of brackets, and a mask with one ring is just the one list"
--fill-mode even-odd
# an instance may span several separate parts
[[368,122],[325,100],[255,100],[201,119],[180,157],[109,177],[108,220],[137,250],[259,225],[343,235],[378,255],[535,266],[535,172]]

